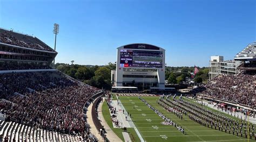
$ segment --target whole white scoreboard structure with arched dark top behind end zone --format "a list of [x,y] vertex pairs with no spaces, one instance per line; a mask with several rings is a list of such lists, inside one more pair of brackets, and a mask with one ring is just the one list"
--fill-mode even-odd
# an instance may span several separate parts
[[117,48],[112,90],[165,90],[165,49],[150,44]]

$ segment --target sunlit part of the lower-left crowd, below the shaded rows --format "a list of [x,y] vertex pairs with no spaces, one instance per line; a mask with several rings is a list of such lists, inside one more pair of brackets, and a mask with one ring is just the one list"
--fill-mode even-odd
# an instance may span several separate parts
[[12,97],[10,101],[17,105],[8,106],[3,112],[7,119],[15,118],[19,123],[78,133],[86,128],[83,106],[93,94],[95,90],[90,87],[52,88],[29,93],[26,97]]

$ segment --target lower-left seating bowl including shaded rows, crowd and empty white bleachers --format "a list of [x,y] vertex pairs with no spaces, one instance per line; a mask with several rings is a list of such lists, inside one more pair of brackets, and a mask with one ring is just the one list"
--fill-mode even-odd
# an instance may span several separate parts
[[6,116],[0,136],[16,141],[95,139],[83,110],[97,92],[57,71],[0,74],[0,110]]

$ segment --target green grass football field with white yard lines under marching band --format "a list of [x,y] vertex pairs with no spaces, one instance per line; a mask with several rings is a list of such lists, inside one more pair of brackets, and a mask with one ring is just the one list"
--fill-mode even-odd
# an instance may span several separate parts
[[[188,116],[184,116],[184,119],[181,120],[156,103],[159,97],[143,98],[185,129],[185,134],[183,134],[172,125],[161,124],[164,120],[140,101],[137,96],[120,96],[120,101],[126,111],[132,114],[132,120],[145,141],[247,141],[246,138],[233,136],[233,134],[225,133],[225,131],[221,132],[207,126],[204,127],[190,120]],[[134,105],[136,105],[135,109],[133,108]]]

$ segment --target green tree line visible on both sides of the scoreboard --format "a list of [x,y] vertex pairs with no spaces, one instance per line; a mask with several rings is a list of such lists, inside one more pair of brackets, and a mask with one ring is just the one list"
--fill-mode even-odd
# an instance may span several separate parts
[[[111,89],[111,70],[116,69],[114,63],[109,62],[105,66],[92,65],[69,65],[66,63],[56,63],[56,69],[61,72],[78,79],[90,86],[104,89]],[[208,68],[199,68],[199,72],[194,76],[194,82],[200,83],[207,81]],[[194,67],[166,67],[165,80],[169,84],[181,84],[186,79],[191,78],[191,73],[194,72]]]

